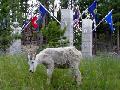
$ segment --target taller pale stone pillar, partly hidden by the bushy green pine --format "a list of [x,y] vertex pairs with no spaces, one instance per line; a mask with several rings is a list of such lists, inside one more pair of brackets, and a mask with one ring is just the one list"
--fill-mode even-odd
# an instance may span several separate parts
[[61,9],[61,28],[66,27],[65,36],[69,40],[69,46],[73,46],[73,10]]

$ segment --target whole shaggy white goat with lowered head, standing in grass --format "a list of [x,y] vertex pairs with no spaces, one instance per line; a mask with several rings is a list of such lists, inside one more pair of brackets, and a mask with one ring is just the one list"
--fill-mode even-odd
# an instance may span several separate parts
[[43,64],[47,69],[48,79],[50,83],[52,73],[55,68],[68,68],[72,70],[73,77],[78,85],[81,84],[81,72],[79,71],[80,60],[82,54],[75,47],[46,48],[36,57],[28,55],[29,71],[35,72],[38,64]]

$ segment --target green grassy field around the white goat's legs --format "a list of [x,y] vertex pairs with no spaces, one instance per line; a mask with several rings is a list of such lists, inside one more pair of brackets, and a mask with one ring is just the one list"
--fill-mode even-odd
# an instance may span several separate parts
[[23,55],[0,56],[0,90],[120,90],[120,60],[113,57],[82,60],[81,86],[75,85],[67,69],[56,69],[49,86],[44,66],[39,65],[33,74],[28,69]]

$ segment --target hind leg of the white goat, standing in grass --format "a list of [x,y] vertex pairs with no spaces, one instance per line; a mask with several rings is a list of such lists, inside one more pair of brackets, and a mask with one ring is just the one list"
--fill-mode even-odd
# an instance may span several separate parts
[[78,85],[81,84],[81,72],[79,71],[79,65],[75,65],[75,67],[72,68],[72,74],[74,76],[74,79]]

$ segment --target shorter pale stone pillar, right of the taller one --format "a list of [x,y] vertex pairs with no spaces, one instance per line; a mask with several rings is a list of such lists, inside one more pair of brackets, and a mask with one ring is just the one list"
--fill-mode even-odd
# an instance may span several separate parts
[[92,57],[92,23],[91,19],[82,20],[82,54]]

